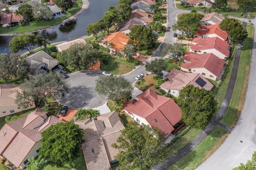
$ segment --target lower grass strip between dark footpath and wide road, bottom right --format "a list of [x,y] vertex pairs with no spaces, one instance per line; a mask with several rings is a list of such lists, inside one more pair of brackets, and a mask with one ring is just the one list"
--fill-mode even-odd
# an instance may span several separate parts
[[179,162],[167,168],[167,170],[191,170],[197,168],[221,145],[227,135],[228,132],[225,129],[216,126],[193,151],[183,157]]

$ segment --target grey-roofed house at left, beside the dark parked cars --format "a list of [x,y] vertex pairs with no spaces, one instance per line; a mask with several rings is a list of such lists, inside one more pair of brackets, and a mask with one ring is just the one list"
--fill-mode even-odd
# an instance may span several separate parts
[[30,67],[29,72],[31,75],[46,73],[58,65],[58,61],[44,51],[28,56],[26,62]]

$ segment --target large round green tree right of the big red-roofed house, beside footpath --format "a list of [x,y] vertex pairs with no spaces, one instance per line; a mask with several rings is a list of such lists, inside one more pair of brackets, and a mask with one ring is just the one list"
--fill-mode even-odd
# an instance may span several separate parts
[[182,120],[192,128],[204,128],[213,117],[217,103],[211,91],[193,85],[180,90],[177,99],[182,110]]

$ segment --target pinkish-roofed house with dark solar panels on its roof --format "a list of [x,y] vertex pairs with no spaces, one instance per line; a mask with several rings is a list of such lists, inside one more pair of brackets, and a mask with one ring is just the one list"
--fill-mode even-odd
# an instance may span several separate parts
[[213,85],[199,73],[186,73],[177,69],[172,69],[165,75],[168,81],[161,84],[160,88],[169,92],[172,96],[178,97],[180,90],[186,86],[193,85],[205,90],[211,90]]

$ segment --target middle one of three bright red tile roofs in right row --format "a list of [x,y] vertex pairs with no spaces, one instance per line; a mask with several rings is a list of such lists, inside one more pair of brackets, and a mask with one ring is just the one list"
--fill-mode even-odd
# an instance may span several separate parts
[[216,49],[220,53],[229,57],[229,44],[223,41],[219,37],[212,38],[194,38],[192,44],[190,45],[192,50],[205,50],[205,49]]

